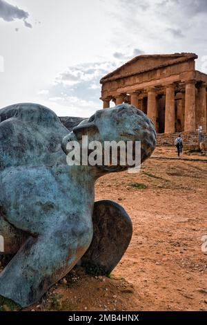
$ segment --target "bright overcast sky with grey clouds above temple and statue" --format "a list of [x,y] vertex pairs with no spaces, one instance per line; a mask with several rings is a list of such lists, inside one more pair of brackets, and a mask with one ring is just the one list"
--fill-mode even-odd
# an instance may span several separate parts
[[0,107],[102,107],[99,80],[139,54],[193,52],[207,73],[207,0],[0,0]]

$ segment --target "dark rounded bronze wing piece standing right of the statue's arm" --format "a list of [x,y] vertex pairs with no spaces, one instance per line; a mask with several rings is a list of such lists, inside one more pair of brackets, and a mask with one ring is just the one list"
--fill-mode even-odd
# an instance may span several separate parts
[[95,202],[94,234],[81,266],[94,275],[109,275],[128,248],[132,222],[123,207],[110,200]]

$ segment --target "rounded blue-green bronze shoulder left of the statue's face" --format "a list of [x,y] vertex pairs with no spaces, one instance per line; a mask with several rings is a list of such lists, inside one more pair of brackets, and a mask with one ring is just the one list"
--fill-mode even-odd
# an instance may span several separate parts
[[1,109],[0,169],[58,164],[67,133],[57,115],[45,106],[23,103]]

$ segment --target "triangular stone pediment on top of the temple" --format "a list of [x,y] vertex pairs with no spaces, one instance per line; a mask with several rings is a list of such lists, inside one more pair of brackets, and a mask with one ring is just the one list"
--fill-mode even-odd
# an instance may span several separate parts
[[128,77],[144,71],[150,71],[154,68],[161,66],[169,66],[170,64],[176,64],[179,62],[185,62],[189,59],[197,59],[197,55],[194,53],[175,53],[165,55],[138,55],[126,64],[120,66],[115,71],[108,73],[101,79],[101,84],[109,81],[116,80],[120,77]]

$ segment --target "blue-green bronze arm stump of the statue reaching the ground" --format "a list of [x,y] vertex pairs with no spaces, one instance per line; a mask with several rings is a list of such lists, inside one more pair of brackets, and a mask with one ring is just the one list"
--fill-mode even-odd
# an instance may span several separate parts
[[12,299],[21,307],[37,302],[64,277],[86,252],[92,232],[77,216],[76,224],[68,216],[51,215],[52,226],[37,237],[30,236],[0,274],[0,296]]

